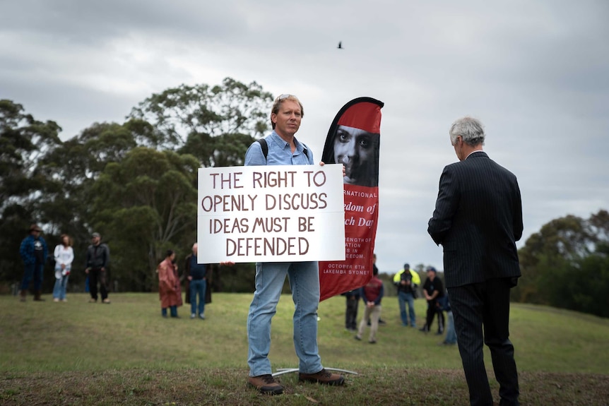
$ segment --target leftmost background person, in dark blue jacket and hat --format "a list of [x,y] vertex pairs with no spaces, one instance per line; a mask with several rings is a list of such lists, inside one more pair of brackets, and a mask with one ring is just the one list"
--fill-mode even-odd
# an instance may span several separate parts
[[47,261],[47,241],[40,236],[42,229],[38,225],[30,226],[30,235],[21,241],[19,254],[23,259],[25,271],[21,280],[20,300],[25,301],[30,287],[30,281],[34,280],[34,300],[42,299],[42,277]]

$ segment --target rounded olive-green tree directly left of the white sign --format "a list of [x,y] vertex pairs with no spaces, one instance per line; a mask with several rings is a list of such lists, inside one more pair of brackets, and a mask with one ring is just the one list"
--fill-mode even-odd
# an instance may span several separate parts
[[110,245],[111,279],[122,289],[150,291],[165,251],[191,246],[198,168],[192,155],[137,147],[93,184],[90,220]]

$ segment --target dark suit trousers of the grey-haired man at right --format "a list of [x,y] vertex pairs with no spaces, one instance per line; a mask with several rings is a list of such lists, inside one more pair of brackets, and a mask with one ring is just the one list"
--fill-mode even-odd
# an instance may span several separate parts
[[490,349],[500,405],[518,405],[514,345],[509,340],[509,278],[449,287],[451,308],[471,405],[492,405],[483,344]]

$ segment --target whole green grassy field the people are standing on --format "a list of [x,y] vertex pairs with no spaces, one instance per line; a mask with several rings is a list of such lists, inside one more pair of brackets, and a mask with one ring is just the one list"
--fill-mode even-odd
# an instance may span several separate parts
[[[0,296],[1,405],[468,405],[456,347],[402,327],[397,299],[384,299],[377,345],[344,328],[342,297],[319,306],[324,366],[347,369],[328,388],[280,377],[281,396],[247,388],[246,318],[251,294],[214,294],[205,321],[161,318],[156,294],[112,294],[112,304]],[[418,322],[425,301],[415,301]],[[361,311],[360,306],[360,311]],[[293,304],[282,297],[273,318],[273,369],[297,367]],[[609,320],[514,304],[522,405],[609,405]],[[498,386],[487,369],[495,400]]]

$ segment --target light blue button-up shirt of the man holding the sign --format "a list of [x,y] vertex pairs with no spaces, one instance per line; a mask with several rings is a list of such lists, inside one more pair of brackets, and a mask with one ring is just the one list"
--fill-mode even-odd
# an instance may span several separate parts
[[[283,141],[278,133],[273,131],[266,137],[266,144],[268,145],[266,159],[264,153],[262,153],[260,143],[256,141],[247,148],[244,165],[313,165],[311,149],[300,143],[296,138],[294,138],[294,143],[296,144],[296,150],[292,154],[290,143]],[[308,157],[305,155],[305,148],[307,148]]]

